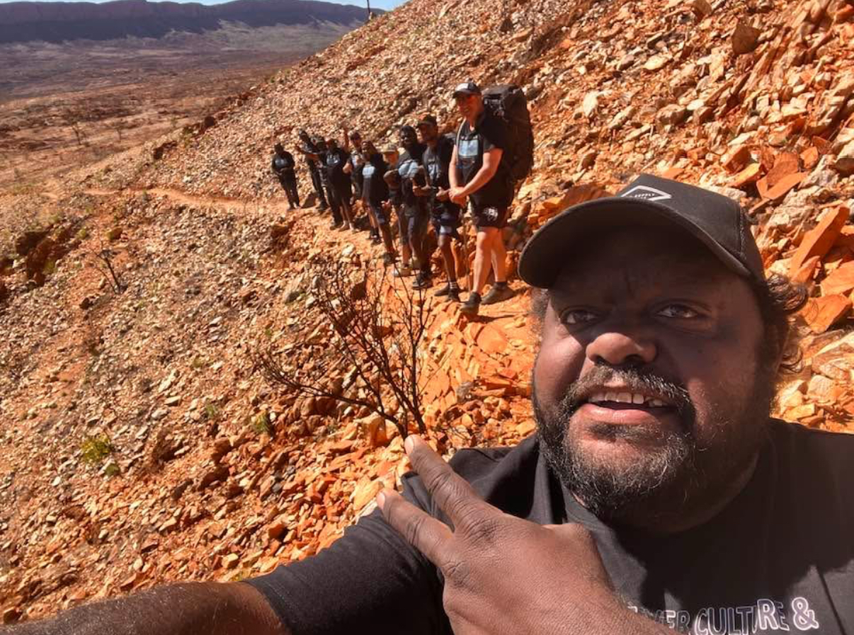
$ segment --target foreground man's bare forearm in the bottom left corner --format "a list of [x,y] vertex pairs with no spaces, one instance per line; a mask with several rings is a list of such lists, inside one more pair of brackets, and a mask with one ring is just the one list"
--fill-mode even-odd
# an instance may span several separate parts
[[243,583],[161,586],[86,604],[0,635],[290,635],[266,599]]

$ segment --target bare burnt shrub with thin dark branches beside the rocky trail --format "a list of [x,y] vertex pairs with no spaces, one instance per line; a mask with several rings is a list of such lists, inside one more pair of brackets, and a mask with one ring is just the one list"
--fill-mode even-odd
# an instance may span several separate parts
[[430,307],[423,292],[395,285],[381,267],[354,269],[326,259],[317,271],[313,295],[330,327],[329,341],[322,342],[327,354],[309,352],[306,342],[306,359],[293,347],[278,350],[265,342],[250,353],[254,369],[292,393],[374,412],[403,438],[413,426],[424,434],[418,349]]

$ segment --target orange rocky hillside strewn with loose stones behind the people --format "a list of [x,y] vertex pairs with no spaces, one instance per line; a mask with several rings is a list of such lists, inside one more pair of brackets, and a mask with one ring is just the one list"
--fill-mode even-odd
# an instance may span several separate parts
[[[513,263],[547,218],[637,172],[718,189],[750,210],[769,270],[810,287],[779,413],[850,431],[852,68],[839,0],[412,0],[67,189],[3,196],[44,218],[0,260],[4,619],[267,571],[328,545],[401,475],[393,429],[254,372],[260,342],[325,364],[320,257],[360,271],[380,255],[313,210],[284,213],[268,153],[301,127],[388,140],[432,112],[453,129],[449,90],[468,77],[531,102]],[[527,302],[483,322],[430,304],[425,418],[449,451],[534,428]]]

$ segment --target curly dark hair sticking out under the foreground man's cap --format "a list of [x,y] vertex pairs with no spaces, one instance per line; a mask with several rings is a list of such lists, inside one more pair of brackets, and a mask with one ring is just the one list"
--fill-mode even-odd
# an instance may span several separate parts
[[[795,337],[794,316],[806,304],[809,297],[806,288],[776,273],[761,283],[752,281],[751,287],[766,328],[763,353],[770,358],[780,356],[781,374],[797,373],[803,356]],[[548,290],[535,288],[530,312],[538,323],[538,329],[546,317],[547,308]]]

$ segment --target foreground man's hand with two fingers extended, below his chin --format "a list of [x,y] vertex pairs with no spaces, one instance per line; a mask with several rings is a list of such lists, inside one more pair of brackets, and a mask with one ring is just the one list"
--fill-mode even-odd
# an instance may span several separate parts
[[587,529],[505,514],[423,440],[408,437],[406,449],[453,528],[397,492],[380,492],[377,504],[445,576],[443,602],[455,635],[669,632],[619,601]]

